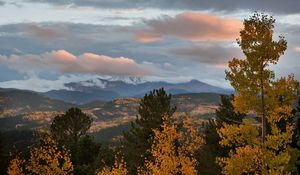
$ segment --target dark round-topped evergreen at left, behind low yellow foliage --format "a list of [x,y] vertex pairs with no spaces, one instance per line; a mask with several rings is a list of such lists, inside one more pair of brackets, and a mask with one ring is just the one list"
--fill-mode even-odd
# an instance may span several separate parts
[[[92,161],[100,152],[100,145],[92,139],[84,137],[91,127],[92,118],[83,113],[79,108],[70,108],[65,114],[58,115],[51,124],[51,133],[59,141],[71,151],[71,160],[74,165],[74,174],[82,174],[85,167],[92,170]],[[87,145],[86,142],[89,142]],[[85,161],[85,149],[90,149],[90,161]],[[93,153],[93,154],[91,154]],[[88,174],[88,172],[84,172]]]

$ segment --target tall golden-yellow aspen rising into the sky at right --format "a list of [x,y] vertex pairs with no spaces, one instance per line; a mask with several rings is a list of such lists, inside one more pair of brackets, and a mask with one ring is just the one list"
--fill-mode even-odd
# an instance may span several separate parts
[[[234,109],[256,115],[261,122],[247,119],[218,130],[220,144],[231,148],[228,157],[218,159],[224,174],[286,173],[290,160],[287,146],[293,133],[288,120],[298,82],[292,75],[276,80],[275,73],[268,69],[287,48],[284,37],[273,40],[274,23],[272,16],[259,13],[245,19],[238,44],[246,58],[234,58],[226,71],[226,79],[236,91]],[[283,121],[284,130],[278,126]]]

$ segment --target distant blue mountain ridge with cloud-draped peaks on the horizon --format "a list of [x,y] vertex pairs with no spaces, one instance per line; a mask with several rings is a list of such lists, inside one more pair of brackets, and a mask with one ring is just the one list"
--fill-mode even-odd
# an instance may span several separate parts
[[229,90],[191,80],[185,83],[168,83],[163,81],[145,82],[138,78],[131,79],[101,79],[71,82],[65,86],[69,90],[53,90],[43,93],[44,95],[70,103],[85,104],[92,101],[110,101],[123,97],[143,97],[145,93],[153,89],[165,88],[171,94],[187,93],[230,93]]

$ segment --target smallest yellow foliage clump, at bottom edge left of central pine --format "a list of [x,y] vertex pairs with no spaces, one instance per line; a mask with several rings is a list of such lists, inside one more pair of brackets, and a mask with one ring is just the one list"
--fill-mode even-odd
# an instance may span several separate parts
[[97,173],[97,175],[127,175],[128,170],[126,169],[126,163],[124,159],[121,159],[120,162],[116,161],[112,168],[104,167],[104,169]]

